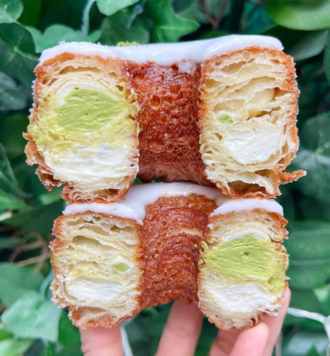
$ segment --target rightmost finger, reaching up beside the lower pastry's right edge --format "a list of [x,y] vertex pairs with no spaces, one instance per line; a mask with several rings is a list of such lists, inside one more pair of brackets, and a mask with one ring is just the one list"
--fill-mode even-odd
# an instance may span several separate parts
[[281,332],[283,320],[289,306],[290,297],[291,297],[291,292],[290,289],[287,288],[284,292],[284,304],[283,307],[280,309],[280,312],[278,312],[278,315],[264,316],[264,323],[267,324],[269,329],[269,337],[267,340],[267,344],[263,356],[271,356],[273,352],[273,348],[275,346],[277,337]]

